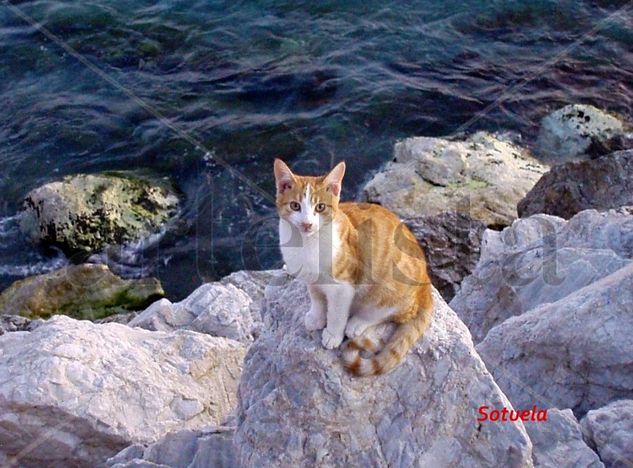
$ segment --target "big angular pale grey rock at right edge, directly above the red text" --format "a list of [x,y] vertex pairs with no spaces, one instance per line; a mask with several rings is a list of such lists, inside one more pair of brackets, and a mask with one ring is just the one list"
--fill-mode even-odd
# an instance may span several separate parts
[[577,416],[633,398],[633,263],[491,329],[477,351],[513,405]]

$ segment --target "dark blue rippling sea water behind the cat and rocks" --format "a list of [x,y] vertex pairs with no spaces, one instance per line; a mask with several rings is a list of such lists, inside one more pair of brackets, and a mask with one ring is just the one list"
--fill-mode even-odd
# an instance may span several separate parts
[[181,297],[277,264],[275,157],[300,172],[345,159],[353,197],[399,138],[488,129],[529,146],[575,102],[630,114],[631,3],[3,2],[0,288],[64,262],[12,216],[65,174],[142,169],[181,188],[179,230],[107,256]]

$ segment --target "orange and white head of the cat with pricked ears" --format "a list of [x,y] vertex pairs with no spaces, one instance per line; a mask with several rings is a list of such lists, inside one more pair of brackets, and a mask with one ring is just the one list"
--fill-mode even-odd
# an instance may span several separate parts
[[345,163],[328,174],[312,177],[294,174],[281,159],[275,159],[277,212],[302,235],[311,236],[331,223],[338,212]]

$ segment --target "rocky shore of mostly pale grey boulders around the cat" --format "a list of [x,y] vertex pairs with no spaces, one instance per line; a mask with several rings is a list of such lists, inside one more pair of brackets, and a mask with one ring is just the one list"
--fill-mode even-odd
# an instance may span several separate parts
[[[435,309],[377,378],[350,377],[305,330],[306,288],[283,270],[173,303],[100,265],[16,283],[0,295],[0,465],[633,465],[633,153],[592,153],[628,138],[612,119],[589,106],[546,116],[539,160],[488,133],[396,144],[361,198],[424,245]],[[86,281],[97,271],[110,286]],[[108,303],[97,290],[151,303],[95,312]]]

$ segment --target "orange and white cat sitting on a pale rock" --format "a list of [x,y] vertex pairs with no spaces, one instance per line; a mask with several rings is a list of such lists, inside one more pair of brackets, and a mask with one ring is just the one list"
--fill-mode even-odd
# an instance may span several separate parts
[[[343,364],[352,374],[390,371],[431,322],[432,286],[422,248],[388,209],[340,202],[344,162],[312,177],[294,174],[276,159],[274,174],[281,253],[288,273],[310,294],[306,328],[323,329],[327,349],[347,335]],[[396,324],[387,342],[365,334],[385,322]]]

